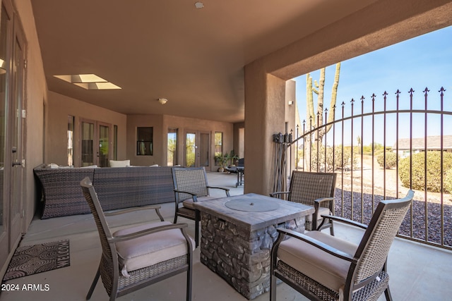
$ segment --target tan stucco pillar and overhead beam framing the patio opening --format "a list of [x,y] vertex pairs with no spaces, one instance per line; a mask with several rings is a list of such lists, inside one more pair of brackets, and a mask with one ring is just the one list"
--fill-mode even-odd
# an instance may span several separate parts
[[[273,183],[271,136],[283,133],[285,80],[452,24],[450,0],[379,0],[245,66],[244,192]],[[369,22],[372,20],[372,22]],[[265,120],[265,123],[263,123]]]

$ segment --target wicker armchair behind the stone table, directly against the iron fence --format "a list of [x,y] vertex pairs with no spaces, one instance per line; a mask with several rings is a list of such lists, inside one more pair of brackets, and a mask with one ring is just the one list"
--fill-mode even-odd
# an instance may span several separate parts
[[327,220],[321,228],[321,215],[334,215],[334,190],[336,185],[335,173],[309,173],[292,171],[290,191],[273,192],[270,197],[287,197],[288,201],[307,204],[314,207],[312,216],[307,216],[304,228],[307,231],[330,228],[334,235],[333,221]]

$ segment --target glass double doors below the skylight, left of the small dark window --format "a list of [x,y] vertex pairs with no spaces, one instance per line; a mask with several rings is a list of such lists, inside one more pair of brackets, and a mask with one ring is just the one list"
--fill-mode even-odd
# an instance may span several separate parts
[[109,166],[112,154],[112,125],[81,120],[81,166]]

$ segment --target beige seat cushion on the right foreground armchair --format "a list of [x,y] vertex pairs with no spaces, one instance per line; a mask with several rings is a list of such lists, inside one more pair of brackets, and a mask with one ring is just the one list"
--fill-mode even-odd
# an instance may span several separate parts
[[[331,247],[340,251],[352,254],[352,256],[358,247],[351,242],[340,240],[319,231],[307,232],[305,235],[331,245]],[[347,278],[350,267],[350,262],[338,259],[338,257],[296,238],[281,242],[278,249],[278,258],[297,271],[302,272],[302,274],[337,292],[345,285],[345,278]]]

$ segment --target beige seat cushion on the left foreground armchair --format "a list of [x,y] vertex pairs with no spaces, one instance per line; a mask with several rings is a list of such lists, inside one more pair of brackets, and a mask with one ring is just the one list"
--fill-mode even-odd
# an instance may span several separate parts
[[[160,221],[126,228],[113,233],[113,236],[126,235],[164,225],[171,225],[171,223]],[[194,248],[194,240],[191,239],[191,242]],[[116,246],[119,254],[119,264],[124,276],[129,276],[127,273],[129,271],[142,269],[145,266],[152,266],[153,264],[187,254],[186,240],[179,229],[157,232],[141,236],[141,238],[117,242]]]

